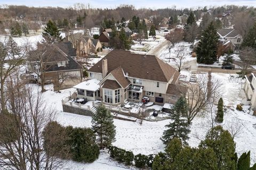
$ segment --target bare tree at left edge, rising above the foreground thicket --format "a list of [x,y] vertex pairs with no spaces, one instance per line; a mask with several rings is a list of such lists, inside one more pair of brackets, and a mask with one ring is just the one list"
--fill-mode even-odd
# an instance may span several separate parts
[[2,111],[5,109],[6,79],[22,66],[26,53],[27,46],[19,47],[12,37],[5,37],[4,42],[0,42],[0,100]]

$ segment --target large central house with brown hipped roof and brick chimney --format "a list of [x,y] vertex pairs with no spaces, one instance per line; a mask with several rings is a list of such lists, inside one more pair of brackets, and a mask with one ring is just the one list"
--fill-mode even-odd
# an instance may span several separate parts
[[92,92],[85,96],[85,91],[93,91],[93,99],[100,99],[105,104],[119,105],[126,100],[139,102],[145,96],[158,105],[174,104],[185,90],[177,84],[180,73],[169,64],[153,55],[132,54],[125,50],[112,50],[88,73],[92,82],[99,81],[99,86],[95,85],[97,90],[86,89],[82,84],[75,88],[83,90],[84,98],[92,97]]

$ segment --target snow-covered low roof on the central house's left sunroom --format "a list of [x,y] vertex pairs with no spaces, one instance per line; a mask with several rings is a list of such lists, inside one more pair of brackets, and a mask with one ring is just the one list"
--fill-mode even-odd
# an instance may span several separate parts
[[100,88],[99,82],[100,81],[97,79],[90,79],[77,84],[76,86],[74,86],[74,88],[89,91],[97,91]]

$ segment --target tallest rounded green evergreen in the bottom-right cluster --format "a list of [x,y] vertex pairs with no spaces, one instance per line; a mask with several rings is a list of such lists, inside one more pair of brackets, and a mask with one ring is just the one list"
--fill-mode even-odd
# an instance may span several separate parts
[[215,126],[207,132],[205,140],[201,141],[199,147],[213,149],[219,170],[236,169],[235,142],[230,133],[221,126]]

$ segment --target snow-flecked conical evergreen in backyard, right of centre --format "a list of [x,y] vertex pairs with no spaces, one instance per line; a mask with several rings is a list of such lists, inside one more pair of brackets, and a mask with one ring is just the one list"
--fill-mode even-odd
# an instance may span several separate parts
[[184,97],[180,97],[174,106],[174,112],[170,114],[170,118],[173,122],[170,122],[166,127],[167,130],[164,131],[162,140],[165,144],[171,141],[173,138],[179,138],[185,145],[187,145],[186,140],[189,139],[188,133],[189,124],[187,120],[182,118],[188,112],[188,104]]

